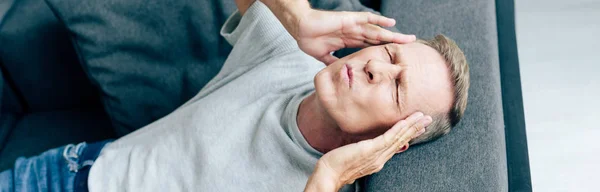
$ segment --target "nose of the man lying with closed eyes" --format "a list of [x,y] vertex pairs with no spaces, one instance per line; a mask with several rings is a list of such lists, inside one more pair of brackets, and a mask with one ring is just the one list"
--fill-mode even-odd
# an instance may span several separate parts
[[398,77],[402,68],[398,65],[381,62],[378,60],[369,60],[365,65],[365,73],[369,83],[379,84],[383,81],[391,81]]

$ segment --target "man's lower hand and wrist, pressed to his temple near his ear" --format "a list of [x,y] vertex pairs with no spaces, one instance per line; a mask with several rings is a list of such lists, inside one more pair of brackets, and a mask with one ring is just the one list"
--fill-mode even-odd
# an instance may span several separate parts
[[358,178],[379,172],[396,153],[425,132],[430,116],[415,113],[374,139],[334,149],[319,159],[305,191],[337,191]]

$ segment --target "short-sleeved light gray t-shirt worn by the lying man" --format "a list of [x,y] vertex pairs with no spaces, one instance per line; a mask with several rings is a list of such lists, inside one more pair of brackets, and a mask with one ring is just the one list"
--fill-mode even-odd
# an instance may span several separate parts
[[221,35],[234,48],[219,74],[171,114],[107,145],[90,191],[304,189],[322,153],[296,116],[324,65],[259,1],[234,13]]

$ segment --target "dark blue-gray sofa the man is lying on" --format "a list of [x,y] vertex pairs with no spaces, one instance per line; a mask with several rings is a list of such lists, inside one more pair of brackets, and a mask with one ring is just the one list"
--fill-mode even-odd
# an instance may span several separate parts
[[[103,25],[121,26],[118,19],[97,22],[92,27],[98,28],[87,33],[90,27],[79,27],[78,14],[97,11],[90,5],[103,1],[68,2],[0,0],[0,170],[10,168],[18,156],[67,143],[117,138],[168,114],[216,74],[231,50],[218,29],[235,9],[233,0],[173,0],[168,5],[194,10],[190,13],[149,6],[116,9],[124,11],[122,16],[137,16],[126,21],[146,27],[133,30],[131,37],[119,36],[130,29],[96,34],[105,29]],[[139,0],[115,2],[139,5]],[[395,30],[421,38],[446,34],[458,42],[471,66],[469,106],[461,123],[449,135],[393,157],[381,172],[359,181],[364,189],[531,191],[512,0],[363,0],[362,5],[356,0],[312,0],[311,4],[321,9],[380,11],[396,18]],[[92,18],[102,17],[102,11],[97,12]],[[180,14],[190,21],[169,20],[181,18]],[[168,45],[183,47],[159,49],[170,57],[153,57],[152,50],[119,49],[121,41],[103,41],[142,38],[133,44],[144,47],[144,42],[165,39],[143,35],[163,31],[161,22],[169,23],[169,34],[179,34],[169,37]],[[176,31],[189,29],[195,31]],[[127,65],[123,59],[90,59],[98,58],[93,50],[115,47],[161,62],[136,60]],[[197,55],[182,55],[186,51]],[[161,70],[144,71],[155,68]],[[123,77],[131,70],[142,70],[143,75]],[[107,80],[106,75],[111,77]],[[114,79],[122,84],[115,85]],[[127,86],[119,87],[123,84]]]

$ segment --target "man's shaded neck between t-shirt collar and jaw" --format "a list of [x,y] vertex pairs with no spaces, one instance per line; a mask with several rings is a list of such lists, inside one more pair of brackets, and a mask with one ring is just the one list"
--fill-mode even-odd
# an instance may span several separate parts
[[321,153],[350,143],[348,135],[323,108],[316,92],[300,103],[296,120],[304,139]]

